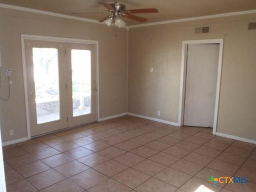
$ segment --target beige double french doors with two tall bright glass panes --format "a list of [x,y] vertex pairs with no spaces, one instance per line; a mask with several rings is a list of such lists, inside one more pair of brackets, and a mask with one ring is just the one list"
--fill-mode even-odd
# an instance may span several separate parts
[[95,45],[25,40],[31,136],[97,120]]

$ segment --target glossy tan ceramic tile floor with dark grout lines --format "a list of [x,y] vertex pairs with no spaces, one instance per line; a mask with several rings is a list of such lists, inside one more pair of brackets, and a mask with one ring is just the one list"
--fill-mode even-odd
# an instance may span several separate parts
[[[255,148],[209,128],[122,116],[3,150],[8,192],[255,192]],[[249,182],[214,186],[211,175]]]

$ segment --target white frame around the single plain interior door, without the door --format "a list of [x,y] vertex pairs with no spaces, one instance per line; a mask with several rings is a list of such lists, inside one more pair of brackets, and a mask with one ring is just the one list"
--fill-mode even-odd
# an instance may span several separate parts
[[220,81],[222,71],[222,56],[223,56],[223,39],[206,39],[206,40],[188,40],[182,41],[182,57],[181,57],[181,72],[180,72],[180,102],[179,102],[179,116],[178,125],[183,126],[184,118],[184,102],[185,102],[185,89],[186,89],[186,66],[187,66],[187,48],[190,44],[220,44],[219,59],[218,59],[218,76],[216,86],[216,99],[214,107],[214,121],[212,134],[216,134],[217,120],[218,120],[218,107],[220,99]]

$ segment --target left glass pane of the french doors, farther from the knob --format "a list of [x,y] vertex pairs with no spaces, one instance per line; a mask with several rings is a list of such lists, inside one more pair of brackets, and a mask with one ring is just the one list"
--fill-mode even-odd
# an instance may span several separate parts
[[37,124],[60,120],[58,50],[33,48]]

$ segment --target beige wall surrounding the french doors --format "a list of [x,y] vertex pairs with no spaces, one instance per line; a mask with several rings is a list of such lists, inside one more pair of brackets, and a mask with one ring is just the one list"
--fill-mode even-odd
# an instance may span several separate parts
[[[125,29],[0,8],[0,45],[3,62],[3,66],[0,67],[0,95],[3,97],[7,92],[5,70],[13,69],[10,100],[0,100],[3,142],[27,136],[20,34],[98,40],[100,118],[126,112]],[[9,136],[11,129],[14,130],[14,136]]]

